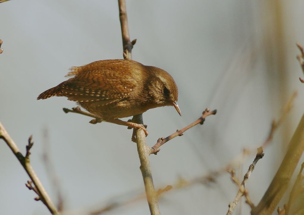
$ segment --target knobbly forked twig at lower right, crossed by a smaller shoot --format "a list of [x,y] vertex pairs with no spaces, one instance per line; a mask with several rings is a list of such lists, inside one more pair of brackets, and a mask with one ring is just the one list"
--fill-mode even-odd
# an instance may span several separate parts
[[231,174],[231,178],[233,180],[234,183],[236,183],[239,187],[239,190],[237,191],[237,195],[235,196],[234,200],[232,203],[229,204],[229,210],[227,212],[227,215],[231,215],[235,209],[235,207],[237,206],[237,203],[239,202],[240,198],[244,195],[246,197],[246,203],[249,204],[250,208],[254,208],[253,203],[251,202],[249,195],[248,195],[248,190],[245,189],[245,185],[252,173],[252,171],[254,170],[255,165],[257,164],[258,160],[263,158],[264,153],[263,153],[263,148],[260,147],[257,149],[257,155],[254,159],[254,161],[252,162],[252,164],[249,166],[249,169],[247,171],[247,173],[244,175],[244,179],[242,181],[242,183],[238,183],[235,175],[234,175],[234,170],[230,170],[230,174]]

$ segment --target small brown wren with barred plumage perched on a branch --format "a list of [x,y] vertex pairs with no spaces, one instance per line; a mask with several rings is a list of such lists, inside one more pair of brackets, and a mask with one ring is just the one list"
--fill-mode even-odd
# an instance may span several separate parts
[[174,106],[181,115],[177,86],[165,70],[134,60],[99,60],[70,70],[66,77],[74,77],[44,91],[37,100],[65,96],[102,121],[143,129],[146,135],[143,125],[118,118],[163,106]]

